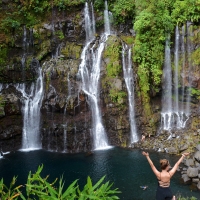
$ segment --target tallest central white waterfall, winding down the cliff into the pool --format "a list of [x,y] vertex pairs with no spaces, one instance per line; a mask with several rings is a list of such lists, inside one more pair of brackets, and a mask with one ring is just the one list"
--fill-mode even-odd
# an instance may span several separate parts
[[[91,10],[93,10],[92,7],[91,4]],[[93,41],[95,36],[94,13],[90,14],[87,2],[85,3],[85,32],[86,45],[81,54],[82,62],[79,66],[79,74],[82,79],[82,90],[88,96],[88,103],[92,111],[94,149],[102,149],[108,147],[108,139],[99,109],[99,80],[101,57],[107,37],[103,34],[98,41],[99,44]]]

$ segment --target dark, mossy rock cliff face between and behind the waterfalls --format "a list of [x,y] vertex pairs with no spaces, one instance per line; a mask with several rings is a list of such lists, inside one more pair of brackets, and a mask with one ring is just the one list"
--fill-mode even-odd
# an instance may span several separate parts
[[[29,44],[33,41],[31,50],[23,47],[24,34],[14,40],[10,51],[13,59],[2,70],[0,76],[0,82],[3,84],[0,94],[0,146],[3,151],[16,150],[21,146],[22,95],[15,89],[15,83],[28,84],[35,80],[37,73],[34,70],[34,59],[40,61],[44,77],[45,94],[41,108],[43,148],[70,153],[92,149],[92,114],[87,95],[81,91],[81,80],[78,76],[81,52],[85,45],[83,11],[83,6],[76,7],[71,13],[55,9],[53,20],[47,19],[35,29],[27,29],[26,41],[29,41]],[[97,24],[102,24],[102,16],[97,13],[96,20]],[[130,145],[130,122],[121,50],[123,42],[129,46],[134,45],[135,33],[131,23],[120,25],[115,29],[116,34],[109,36],[102,56],[100,109],[109,143],[127,147]],[[197,30],[199,31],[199,28]],[[97,28],[97,42],[102,31],[103,26],[100,25]],[[195,40],[195,44],[196,48],[199,48],[199,41]],[[23,56],[24,63],[22,63]],[[25,69],[22,68],[23,64]],[[151,116],[146,116],[144,102],[140,97],[137,64],[134,66],[135,117],[138,134],[139,137],[141,134],[154,136],[159,132],[160,126],[161,91],[149,94],[152,112]],[[195,91],[192,96],[192,114],[187,123],[188,132],[199,129],[199,90],[197,90],[200,89],[199,66],[193,69],[191,79]],[[187,80],[186,74],[185,85]]]

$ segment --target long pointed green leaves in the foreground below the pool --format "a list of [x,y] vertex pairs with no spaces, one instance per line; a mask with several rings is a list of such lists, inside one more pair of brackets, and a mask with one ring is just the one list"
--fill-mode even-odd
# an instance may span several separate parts
[[[120,191],[112,189],[112,184],[108,182],[103,183],[105,177],[102,177],[95,185],[92,184],[90,177],[87,178],[87,183],[83,190],[79,188],[78,180],[75,180],[67,189],[64,189],[64,180],[61,177],[53,182],[49,182],[49,176],[42,177],[41,172],[43,165],[39,166],[35,173],[30,172],[27,183],[25,185],[25,192],[21,192],[23,185],[15,186],[16,177],[13,177],[10,186],[4,184],[3,179],[0,181],[0,198],[7,199],[41,199],[41,200],[64,200],[64,199],[104,199],[114,200],[119,199],[117,194]],[[58,184],[57,184],[58,181]],[[26,193],[26,194],[24,194]]]

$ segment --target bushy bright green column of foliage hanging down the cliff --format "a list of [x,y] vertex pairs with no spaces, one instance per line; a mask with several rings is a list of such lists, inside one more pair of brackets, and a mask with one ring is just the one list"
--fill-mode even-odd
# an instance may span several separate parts
[[162,77],[164,62],[164,47],[166,34],[174,29],[170,13],[172,0],[144,1],[141,5],[136,2],[134,30],[134,62],[138,65],[140,95],[147,113],[150,112],[149,91],[158,92]]

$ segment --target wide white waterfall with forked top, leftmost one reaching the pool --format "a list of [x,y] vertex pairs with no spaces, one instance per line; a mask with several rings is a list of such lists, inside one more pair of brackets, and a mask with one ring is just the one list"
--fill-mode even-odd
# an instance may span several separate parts
[[37,64],[38,78],[28,86],[26,83],[18,84],[16,89],[23,95],[23,138],[22,150],[39,149],[40,140],[40,108],[43,98],[43,77],[39,62]]

